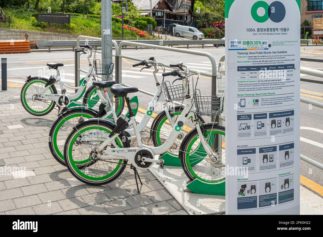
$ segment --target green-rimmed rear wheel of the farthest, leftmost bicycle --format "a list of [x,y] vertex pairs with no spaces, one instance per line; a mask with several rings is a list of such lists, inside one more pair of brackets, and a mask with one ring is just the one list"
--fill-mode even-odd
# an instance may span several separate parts
[[[36,77],[28,80],[21,89],[21,103],[28,113],[35,116],[44,116],[50,113],[55,107],[55,102],[52,100],[36,99],[36,96],[45,88],[47,82],[47,79]],[[55,91],[56,89],[52,85],[47,89],[46,93],[55,94]]]

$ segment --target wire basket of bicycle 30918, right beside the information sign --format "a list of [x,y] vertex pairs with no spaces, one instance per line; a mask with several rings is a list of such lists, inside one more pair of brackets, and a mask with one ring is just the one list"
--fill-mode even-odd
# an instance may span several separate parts
[[223,112],[224,97],[201,96],[201,91],[194,91],[194,103],[199,115],[221,115]]

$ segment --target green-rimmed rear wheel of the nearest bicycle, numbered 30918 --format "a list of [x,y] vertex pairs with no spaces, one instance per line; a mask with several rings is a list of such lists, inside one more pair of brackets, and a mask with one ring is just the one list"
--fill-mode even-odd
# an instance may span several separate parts
[[[109,137],[114,126],[99,119],[89,119],[74,128],[64,146],[65,163],[78,180],[90,185],[103,185],[117,179],[126,168],[127,160],[94,158],[93,151]],[[129,147],[128,139],[121,134],[105,149]],[[101,152],[103,154],[103,152]],[[87,165],[81,166],[84,162]]]

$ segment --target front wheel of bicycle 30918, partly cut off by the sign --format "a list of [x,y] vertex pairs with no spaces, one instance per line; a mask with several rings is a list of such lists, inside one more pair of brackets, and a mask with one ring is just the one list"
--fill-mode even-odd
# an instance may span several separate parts
[[195,128],[184,138],[180,148],[182,168],[190,180],[222,182],[225,180],[225,128],[215,123],[203,124],[201,129],[202,126],[206,135],[202,139],[206,139],[212,155],[206,153]]

